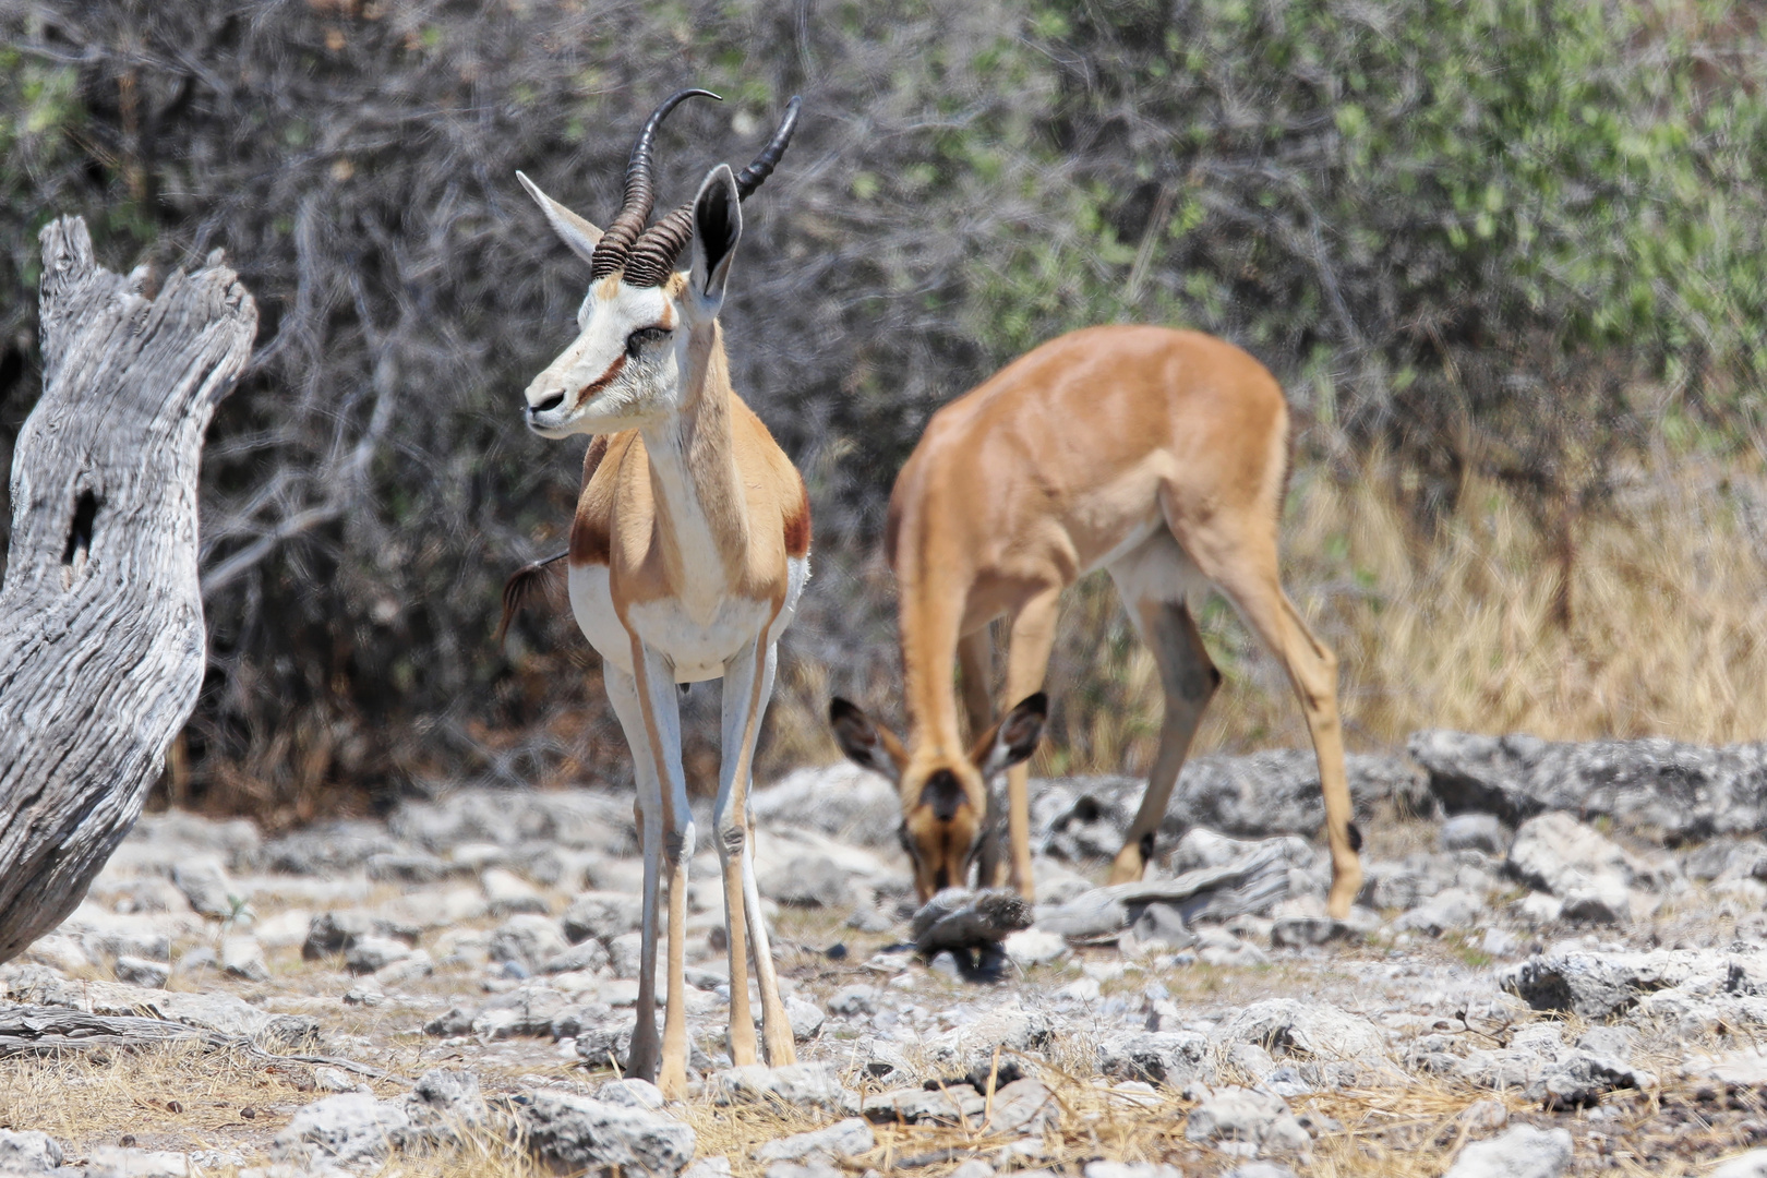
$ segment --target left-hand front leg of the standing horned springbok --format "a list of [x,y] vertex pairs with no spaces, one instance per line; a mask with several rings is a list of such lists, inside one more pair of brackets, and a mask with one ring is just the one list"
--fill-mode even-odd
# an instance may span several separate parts
[[[687,934],[687,860],[693,858],[693,811],[687,809],[687,775],[680,766],[680,701],[675,692],[675,669],[668,659],[633,639],[633,669],[636,671],[638,705],[643,712],[645,740],[657,765],[661,800],[663,871],[668,872],[668,1000],[663,1010],[663,1061],[657,1069],[657,1088],[664,1097],[679,1100],[687,1090],[687,1008],[682,1000],[686,985]],[[650,855],[645,857],[647,885]],[[654,901],[647,895],[647,910]],[[656,936],[645,938],[643,977],[638,978],[640,1001],[647,985],[656,985]],[[636,1044],[634,1044],[636,1049]]]

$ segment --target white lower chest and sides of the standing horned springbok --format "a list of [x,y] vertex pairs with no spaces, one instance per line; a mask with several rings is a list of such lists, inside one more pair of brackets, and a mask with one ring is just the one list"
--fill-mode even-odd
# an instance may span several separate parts
[[[698,616],[689,613],[682,602],[654,600],[631,606],[626,616],[640,641],[670,661],[677,683],[723,678],[724,664],[767,629],[769,618],[772,618],[769,641],[777,641],[779,632],[797,613],[797,599],[809,578],[809,560],[793,558],[788,567],[785,608],[779,609],[777,618],[774,618],[770,600],[749,597],[726,597]],[[613,609],[608,569],[604,565],[573,565],[569,585],[571,613],[576,615],[576,623],[583,629],[588,645],[603,659],[631,675],[633,638]]]

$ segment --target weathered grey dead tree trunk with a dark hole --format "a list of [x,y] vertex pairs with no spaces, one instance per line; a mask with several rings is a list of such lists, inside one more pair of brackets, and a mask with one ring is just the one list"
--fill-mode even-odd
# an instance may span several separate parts
[[44,390],[0,586],[0,961],[80,904],[196,706],[196,472],[258,330],[219,251],[147,298],[81,219],[41,240]]

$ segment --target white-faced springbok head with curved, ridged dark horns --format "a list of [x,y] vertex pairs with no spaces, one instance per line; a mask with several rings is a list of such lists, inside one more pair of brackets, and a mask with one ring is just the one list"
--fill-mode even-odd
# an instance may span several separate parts
[[[544,438],[615,433],[666,417],[680,404],[689,337],[694,328],[710,330],[724,304],[730,260],[742,237],[742,201],[785,155],[800,99],[786,106],[753,164],[740,173],[728,164],[712,168],[698,196],[647,226],[656,203],[650,159],[657,127],[691,97],[717,99],[710,90],[680,90],[652,111],[626,164],[626,205],[606,231],[516,173],[553,233],[588,263],[576,341],[525,394],[528,429]],[[689,270],[677,274],[689,242]]]

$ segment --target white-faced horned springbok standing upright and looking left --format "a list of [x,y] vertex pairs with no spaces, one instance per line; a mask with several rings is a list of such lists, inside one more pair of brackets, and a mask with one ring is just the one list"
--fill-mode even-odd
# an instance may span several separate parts
[[[565,553],[504,590],[504,623],[553,560],[569,558],[571,609],[601,652],[608,699],[626,729],[645,848],[638,1026],[627,1072],[670,1097],[687,1081],[682,1005],[693,814],[680,759],[677,683],[723,678],[723,765],[714,834],[730,940],[730,1056],[756,1061],[747,961],[762,998],[767,1061],[792,1063],[767,924],[755,887],[749,770],[772,694],[776,645],[809,576],[809,496],[767,426],[730,387],[717,313],[742,235],[742,200],[772,173],[797,125],[792,99],[772,141],[740,175],[719,164],[693,201],[645,228],[650,154],[671,95],[633,147],[626,205],[606,233],[516,173],[553,231],[590,267],[578,337],[527,389],[542,438],[595,434]],[[691,242],[691,267],[675,261]],[[668,872],[668,1001],[656,1028],[657,883]],[[659,1060],[661,1047],[661,1060]]]

